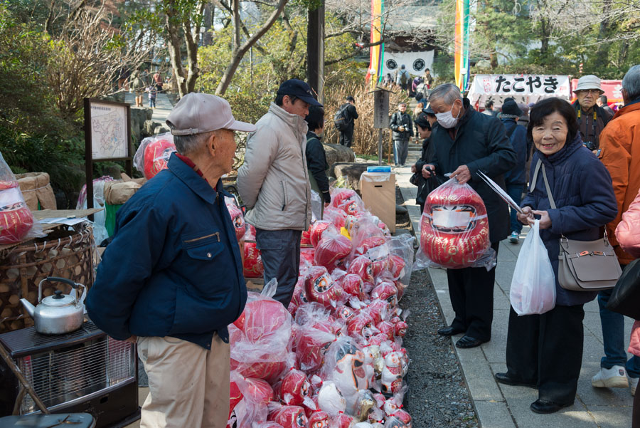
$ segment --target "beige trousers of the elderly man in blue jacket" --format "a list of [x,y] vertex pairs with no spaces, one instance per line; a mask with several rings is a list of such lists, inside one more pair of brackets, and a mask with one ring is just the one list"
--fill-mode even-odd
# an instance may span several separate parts
[[229,416],[230,348],[218,335],[211,350],[166,336],[138,338],[149,376],[141,428],[225,428]]

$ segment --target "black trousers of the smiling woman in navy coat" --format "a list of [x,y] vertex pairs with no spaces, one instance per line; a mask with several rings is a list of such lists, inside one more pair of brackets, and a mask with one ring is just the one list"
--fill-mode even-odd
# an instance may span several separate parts
[[538,398],[560,404],[575,400],[582,366],[585,308],[555,306],[542,315],[518,316],[511,308],[507,374],[538,385]]

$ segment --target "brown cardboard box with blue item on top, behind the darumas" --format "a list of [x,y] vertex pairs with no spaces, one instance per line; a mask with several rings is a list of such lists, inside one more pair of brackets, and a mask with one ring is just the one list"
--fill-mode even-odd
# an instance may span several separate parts
[[365,207],[395,232],[395,174],[363,172],[360,191]]

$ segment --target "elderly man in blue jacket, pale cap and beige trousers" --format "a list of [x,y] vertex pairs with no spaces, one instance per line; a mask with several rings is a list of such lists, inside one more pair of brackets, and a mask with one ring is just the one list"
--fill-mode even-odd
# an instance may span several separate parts
[[247,289],[220,177],[238,122],[215,95],[184,96],[166,120],[177,153],[116,218],[87,296],[92,321],[137,342],[149,375],[141,427],[224,428],[229,413],[227,325]]

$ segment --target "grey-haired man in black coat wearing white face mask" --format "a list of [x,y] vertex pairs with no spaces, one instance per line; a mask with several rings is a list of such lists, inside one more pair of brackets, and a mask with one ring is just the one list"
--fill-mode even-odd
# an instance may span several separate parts
[[[498,244],[509,234],[509,211],[477,172],[484,172],[504,189],[503,174],[516,165],[516,152],[502,122],[476,112],[456,85],[439,85],[429,101],[438,120],[431,135],[435,152],[430,165],[437,174],[450,172],[452,178],[462,184],[468,182],[478,192],[489,217],[491,248],[497,254]],[[456,343],[458,348],[474,348],[491,340],[496,268],[447,269],[447,279],[456,317],[438,333],[444,336],[464,333]]]

